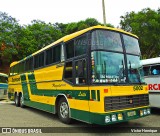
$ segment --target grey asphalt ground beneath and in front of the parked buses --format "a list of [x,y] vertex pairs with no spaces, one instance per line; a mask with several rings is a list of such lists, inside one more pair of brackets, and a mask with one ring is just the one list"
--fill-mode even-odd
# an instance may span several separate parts
[[[9,100],[0,100],[0,135],[8,135],[2,133],[2,129],[4,132],[11,129],[12,135],[16,136],[36,132],[39,134],[32,135],[160,135],[160,109],[151,109],[151,113],[144,118],[105,127],[75,120],[67,125],[60,122],[57,115],[30,107],[16,107]],[[153,133],[156,130],[159,133]]]

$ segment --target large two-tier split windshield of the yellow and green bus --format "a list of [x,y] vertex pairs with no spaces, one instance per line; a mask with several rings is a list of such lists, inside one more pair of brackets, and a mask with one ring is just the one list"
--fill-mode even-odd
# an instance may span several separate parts
[[144,83],[136,38],[96,30],[92,32],[91,50],[92,83]]

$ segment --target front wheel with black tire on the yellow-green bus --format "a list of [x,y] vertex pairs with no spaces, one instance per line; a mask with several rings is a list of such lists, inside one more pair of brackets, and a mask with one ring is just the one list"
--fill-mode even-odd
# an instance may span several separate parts
[[69,117],[69,115],[70,110],[68,102],[64,97],[62,97],[58,102],[58,117],[63,123],[70,124],[71,118]]

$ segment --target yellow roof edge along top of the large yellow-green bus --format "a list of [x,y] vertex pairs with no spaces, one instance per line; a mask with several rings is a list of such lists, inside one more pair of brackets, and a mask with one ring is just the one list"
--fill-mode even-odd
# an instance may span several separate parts
[[46,46],[46,47],[38,50],[37,52],[35,52],[35,53],[27,56],[26,58],[24,58],[24,59],[22,59],[22,60],[16,61],[16,62],[12,62],[11,65],[10,65],[10,67],[14,66],[15,64],[17,64],[17,63],[19,63],[19,62],[21,62],[21,61],[23,61],[23,60],[26,60],[27,58],[29,58],[29,57],[31,57],[31,56],[34,56],[34,55],[36,55],[36,54],[38,54],[38,53],[40,53],[40,52],[42,52],[42,51],[44,51],[44,50],[52,47],[53,45],[56,45],[56,44],[58,44],[58,43],[60,43],[60,42],[69,41],[69,40],[71,40],[71,39],[73,39],[73,38],[75,38],[75,37],[77,37],[77,36],[80,36],[80,35],[88,32],[88,31],[91,31],[91,30],[94,30],[94,29],[106,29],[106,30],[117,31],[117,32],[121,32],[121,33],[124,33],[124,34],[128,34],[128,35],[133,36],[133,37],[135,37],[135,38],[138,38],[136,35],[134,35],[134,34],[132,34],[132,33],[129,33],[129,32],[126,32],[126,31],[124,31],[124,30],[122,30],[122,29],[111,28],[111,27],[106,27],[106,26],[101,26],[101,25],[92,26],[92,27],[89,27],[89,28],[86,28],[86,29],[83,29],[83,30],[80,30],[80,31],[78,31],[78,32],[75,32],[75,33],[72,33],[72,34],[69,34],[69,35],[66,35],[66,36],[62,37],[61,39],[59,39],[59,40],[51,43],[50,45],[48,45],[48,46]]

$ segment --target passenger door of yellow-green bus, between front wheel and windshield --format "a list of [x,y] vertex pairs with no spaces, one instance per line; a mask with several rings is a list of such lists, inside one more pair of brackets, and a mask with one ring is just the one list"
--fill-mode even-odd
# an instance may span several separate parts
[[88,122],[89,89],[87,78],[87,61],[85,58],[74,61],[74,84],[75,114],[73,114],[73,116],[78,120]]

